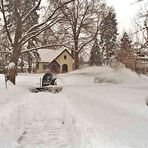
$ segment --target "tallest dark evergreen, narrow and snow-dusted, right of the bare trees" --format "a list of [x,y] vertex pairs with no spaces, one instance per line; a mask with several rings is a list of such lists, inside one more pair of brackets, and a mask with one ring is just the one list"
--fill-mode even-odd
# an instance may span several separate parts
[[107,61],[107,64],[109,64],[109,60],[115,54],[117,35],[116,13],[113,9],[110,9],[107,16],[103,19],[100,28],[100,45],[104,62]]

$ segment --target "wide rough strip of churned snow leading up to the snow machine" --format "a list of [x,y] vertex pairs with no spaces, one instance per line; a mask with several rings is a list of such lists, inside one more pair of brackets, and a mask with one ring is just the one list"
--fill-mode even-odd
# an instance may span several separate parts
[[17,148],[71,148],[78,142],[75,119],[71,117],[65,96],[38,93],[23,98],[20,120],[24,121]]

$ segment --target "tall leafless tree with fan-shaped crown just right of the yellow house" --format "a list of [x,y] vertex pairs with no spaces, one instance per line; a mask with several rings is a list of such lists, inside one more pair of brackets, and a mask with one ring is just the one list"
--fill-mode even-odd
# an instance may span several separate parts
[[[54,1],[55,7],[59,4]],[[106,4],[101,0],[75,0],[60,8],[62,20],[53,28],[53,35],[71,50],[75,69],[79,68],[80,52],[95,40],[105,11]]]

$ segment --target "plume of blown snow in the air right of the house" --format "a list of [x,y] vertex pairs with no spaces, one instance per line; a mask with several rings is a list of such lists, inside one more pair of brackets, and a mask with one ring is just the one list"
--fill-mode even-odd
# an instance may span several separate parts
[[71,74],[77,74],[82,76],[92,77],[94,83],[122,83],[128,80],[139,79],[139,76],[126,68],[111,68],[108,66],[92,66],[78,71],[74,71]]

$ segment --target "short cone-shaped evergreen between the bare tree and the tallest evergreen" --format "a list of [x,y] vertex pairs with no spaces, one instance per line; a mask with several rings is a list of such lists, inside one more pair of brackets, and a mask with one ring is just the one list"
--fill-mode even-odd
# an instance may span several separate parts
[[89,59],[89,65],[97,65],[97,66],[102,65],[101,53],[97,39],[95,39],[90,55],[91,56]]

